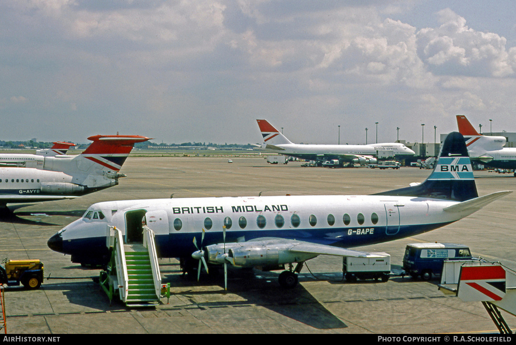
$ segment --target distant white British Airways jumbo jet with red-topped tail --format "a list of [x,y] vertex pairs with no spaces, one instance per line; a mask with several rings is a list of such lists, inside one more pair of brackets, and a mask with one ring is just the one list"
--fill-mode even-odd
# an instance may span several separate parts
[[327,160],[366,165],[376,163],[379,151],[389,152],[394,157],[413,156],[414,151],[401,143],[379,143],[368,145],[295,144],[272,126],[267,120],[256,120],[262,132],[262,149],[285,156],[313,160],[317,165]]

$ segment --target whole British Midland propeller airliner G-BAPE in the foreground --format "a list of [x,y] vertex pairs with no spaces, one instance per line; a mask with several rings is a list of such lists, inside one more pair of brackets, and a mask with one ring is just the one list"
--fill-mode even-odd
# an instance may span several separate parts
[[219,264],[279,270],[288,265],[280,283],[293,287],[306,260],[318,255],[367,256],[348,248],[428,232],[507,193],[478,196],[464,138],[451,133],[436,168],[413,187],[374,195],[101,202],[52,236],[48,245],[70,254],[73,262],[106,265],[106,228],[116,226],[126,242],[138,242],[146,223],[154,232],[159,257],[181,258],[185,268],[188,259],[200,260],[199,267],[203,262],[205,268]]

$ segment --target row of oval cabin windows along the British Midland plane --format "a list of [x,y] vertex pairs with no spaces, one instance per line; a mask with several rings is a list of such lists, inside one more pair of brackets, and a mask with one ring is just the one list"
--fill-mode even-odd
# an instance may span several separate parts
[[[379,220],[378,215],[373,212],[371,214],[370,220],[371,220],[371,223],[373,223],[373,225],[377,224],[378,220]],[[291,221],[291,224],[293,227],[298,227],[299,225],[301,225],[301,218],[296,213],[294,213],[292,215],[290,221]],[[333,216],[331,214],[328,215],[328,217],[326,218],[326,221],[328,222],[328,225],[333,226],[335,224],[335,216]],[[342,221],[344,222],[344,225],[349,225],[351,223],[351,217],[347,213],[345,213],[344,216],[342,216]],[[274,223],[275,223],[276,227],[281,228],[285,225],[285,219],[283,218],[282,215],[276,215],[276,217],[274,217]],[[308,223],[311,226],[317,225],[317,217],[315,215],[310,215],[310,217],[308,217]],[[363,213],[358,213],[357,223],[359,225],[362,225],[365,223],[365,216],[363,215]],[[230,217],[226,217],[226,218],[224,218],[223,225],[225,226],[226,229],[230,229],[233,226],[233,220]],[[267,225],[267,219],[262,215],[256,217],[256,225],[259,228],[263,229]],[[241,216],[240,218],[238,218],[238,226],[241,229],[245,229],[247,227],[247,218],[244,216]],[[174,229],[176,231],[180,231],[182,227],[183,227],[183,221],[180,218],[174,219]],[[209,217],[206,217],[204,219],[204,228],[206,230],[209,230],[212,227],[213,227],[213,220]]]

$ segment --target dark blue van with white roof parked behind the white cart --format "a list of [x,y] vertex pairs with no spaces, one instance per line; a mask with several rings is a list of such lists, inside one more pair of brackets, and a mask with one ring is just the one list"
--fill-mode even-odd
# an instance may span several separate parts
[[470,249],[456,243],[411,243],[405,248],[403,268],[412,278],[428,281],[432,275],[441,274],[445,259],[472,258]]

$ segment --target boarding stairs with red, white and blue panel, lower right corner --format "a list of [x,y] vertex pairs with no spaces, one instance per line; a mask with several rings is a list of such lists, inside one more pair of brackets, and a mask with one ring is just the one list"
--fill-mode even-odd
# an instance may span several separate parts
[[[450,278],[451,271],[455,273]],[[460,266],[457,262],[445,261],[439,286],[453,291],[465,302],[482,302],[498,331],[512,334],[499,309],[516,316],[516,271],[500,262],[483,259],[463,261]]]

